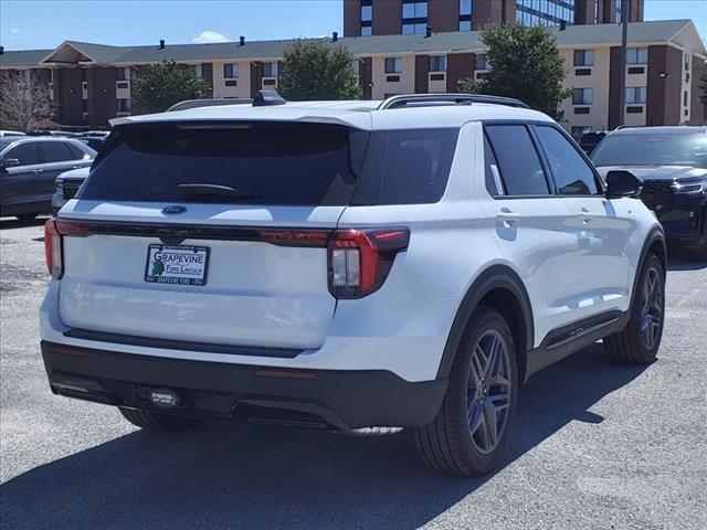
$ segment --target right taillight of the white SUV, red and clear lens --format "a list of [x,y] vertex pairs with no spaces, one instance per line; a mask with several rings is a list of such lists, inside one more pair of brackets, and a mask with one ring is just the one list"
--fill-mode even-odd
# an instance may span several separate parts
[[337,298],[361,298],[376,292],[409,241],[408,229],[337,230],[328,245],[329,290]]

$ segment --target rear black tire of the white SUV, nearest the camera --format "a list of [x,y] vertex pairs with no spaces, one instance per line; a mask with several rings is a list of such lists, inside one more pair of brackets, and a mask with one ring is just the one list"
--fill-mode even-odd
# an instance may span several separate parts
[[[495,386],[496,391],[494,391],[494,385],[489,385],[486,381],[487,392],[481,393],[484,384],[472,388],[471,385],[474,384],[472,362],[474,358],[475,367],[477,367],[477,346],[483,344],[483,341],[489,337],[503,341],[506,348],[505,354],[499,353],[499,356],[504,359],[503,362],[506,367],[509,399],[506,400],[506,406],[503,409],[505,412],[493,412],[494,422],[498,422],[503,415],[504,427],[502,430],[498,426],[495,446],[493,448],[489,446],[487,447],[489,451],[484,452],[477,439],[477,436],[481,436],[481,425],[478,425],[479,420],[476,412],[481,410],[481,423],[484,424],[483,428],[486,433],[485,406],[493,405],[494,399],[500,395],[497,392],[500,386]],[[489,364],[493,363],[489,362]],[[503,386],[506,384],[504,383]],[[450,372],[450,384],[436,418],[430,425],[413,431],[420,455],[429,467],[442,473],[473,477],[490,471],[498,464],[508,446],[516,416],[517,395],[516,348],[508,324],[495,309],[479,306],[469,319],[460,342]],[[488,402],[485,406],[484,399]],[[500,411],[500,409],[498,410]],[[477,425],[475,431],[472,431],[472,424]]]

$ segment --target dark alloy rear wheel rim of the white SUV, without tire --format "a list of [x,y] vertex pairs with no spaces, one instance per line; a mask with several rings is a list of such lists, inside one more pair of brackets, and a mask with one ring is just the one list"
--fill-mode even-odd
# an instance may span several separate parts
[[508,344],[495,329],[481,336],[472,353],[466,414],[476,449],[487,455],[503,439],[511,399]]

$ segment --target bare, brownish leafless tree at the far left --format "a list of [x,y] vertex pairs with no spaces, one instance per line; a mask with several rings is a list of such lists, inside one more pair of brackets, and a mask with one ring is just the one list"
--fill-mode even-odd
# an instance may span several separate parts
[[49,84],[36,75],[0,74],[0,129],[32,130],[51,117],[53,108]]

